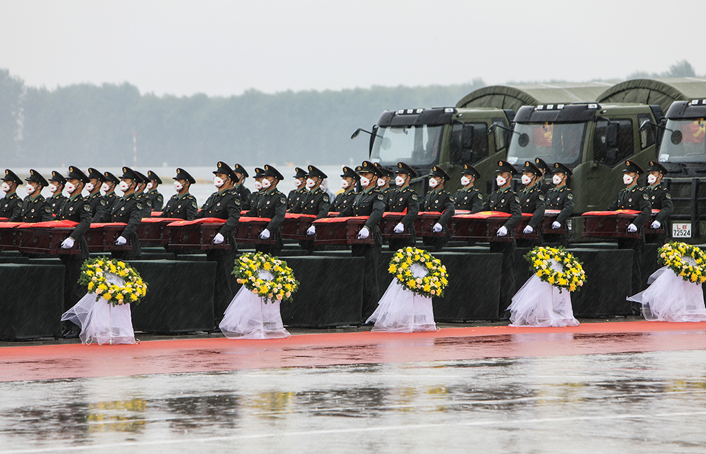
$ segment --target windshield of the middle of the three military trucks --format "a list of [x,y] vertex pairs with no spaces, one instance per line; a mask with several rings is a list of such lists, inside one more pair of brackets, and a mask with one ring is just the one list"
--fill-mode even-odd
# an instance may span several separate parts
[[574,168],[581,162],[585,132],[586,123],[517,123],[508,162],[525,164],[542,158],[550,165],[561,162]]

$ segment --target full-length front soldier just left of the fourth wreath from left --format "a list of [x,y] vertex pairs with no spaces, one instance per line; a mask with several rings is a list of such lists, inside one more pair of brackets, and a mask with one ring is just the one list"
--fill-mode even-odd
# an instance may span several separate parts
[[[517,223],[522,219],[522,210],[520,209],[520,198],[510,188],[513,180],[513,175],[517,174],[517,169],[508,161],[502,159],[498,161],[498,169],[496,170],[496,183],[498,190],[488,196],[488,200],[483,204],[482,211],[503,211],[510,213],[510,218],[501,228],[498,228],[498,237],[506,237],[508,233],[513,231]],[[501,319],[508,319],[510,314],[507,307],[512,302],[515,294],[515,249],[517,245],[515,240],[511,241],[491,241],[490,252],[503,254],[503,267],[500,286],[500,314]]]

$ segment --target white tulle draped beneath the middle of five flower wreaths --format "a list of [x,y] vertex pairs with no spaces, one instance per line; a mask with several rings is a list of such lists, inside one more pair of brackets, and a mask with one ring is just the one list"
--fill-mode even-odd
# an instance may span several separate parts
[[[424,277],[426,268],[413,264],[410,271],[414,277]],[[413,293],[393,279],[378,302],[378,308],[367,320],[373,322],[372,331],[389,331],[393,333],[418,333],[420,331],[436,331],[431,298]]]

